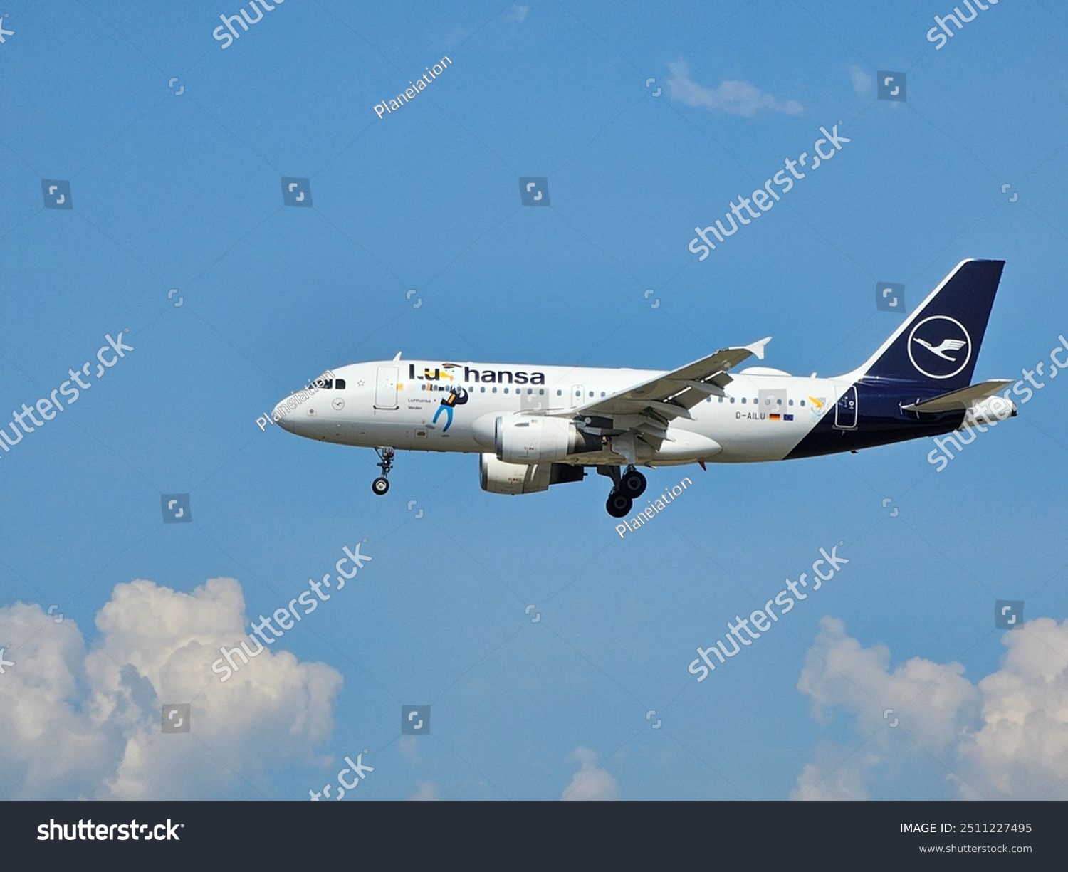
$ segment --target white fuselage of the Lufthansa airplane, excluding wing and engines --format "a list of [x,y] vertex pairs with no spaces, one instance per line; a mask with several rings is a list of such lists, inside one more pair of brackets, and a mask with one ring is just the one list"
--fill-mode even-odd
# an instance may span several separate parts
[[[332,372],[343,387],[301,392],[305,398],[283,400],[276,423],[298,435],[343,445],[467,453],[493,450],[485,437],[487,421],[531,410],[575,409],[663,375],[649,369],[444,366],[408,360],[351,364]],[[798,378],[765,367],[742,369],[724,396],[707,397],[693,407],[692,419],[672,421],[669,440],[658,451],[646,448],[639,462],[657,466],[781,460],[824,415],[835,416],[843,430],[855,428],[857,410],[850,410],[847,397],[851,384],[851,375]],[[460,396],[466,394],[466,399],[451,410],[443,408],[454,387],[464,389]],[[839,406],[843,397],[846,401]],[[574,455],[564,462],[619,463],[621,458],[607,446],[602,453]]]

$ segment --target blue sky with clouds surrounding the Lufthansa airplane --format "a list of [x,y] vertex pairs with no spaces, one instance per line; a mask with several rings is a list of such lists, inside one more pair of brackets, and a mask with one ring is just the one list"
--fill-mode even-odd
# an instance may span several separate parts
[[[1040,689],[1068,684],[1068,381],[941,473],[926,441],[688,470],[623,541],[597,476],[505,498],[473,456],[402,455],[378,498],[370,450],[255,425],[398,350],[669,368],[770,334],[768,365],[832,375],[899,321],[877,282],[911,307],[970,256],[1007,261],[976,379],[1020,378],[1068,331],[1062,10],[1000,3],[937,50],[952,10],[925,2],[288,0],[226,49],[236,0],[5,9],[0,408],[109,333],[135,350],[0,456],[0,796],[305,798],[367,749],[346,799],[1066,798],[1068,754],[1038,749],[1064,718]],[[876,99],[877,70],[906,102]],[[835,124],[851,141],[776,208],[687,250]],[[519,176],[551,206],[522,207]],[[168,493],[192,523],[162,522]],[[234,596],[267,614],[364,538],[373,561],[247,696],[214,682]],[[688,675],[839,541],[848,567],[788,622]],[[182,596],[216,577],[236,584]],[[1023,632],[995,599],[1025,602]],[[159,735],[194,684],[190,734]],[[427,703],[430,734],[400,738]],[[49,749],[37,718],[84,744]]]

